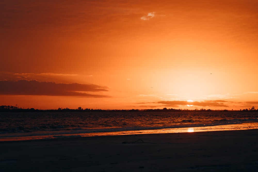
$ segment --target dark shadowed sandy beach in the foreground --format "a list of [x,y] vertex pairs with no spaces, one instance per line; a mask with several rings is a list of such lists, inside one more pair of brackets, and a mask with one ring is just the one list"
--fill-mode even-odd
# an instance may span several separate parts
[[258,130],[0,142],[0,171],[258,171]]

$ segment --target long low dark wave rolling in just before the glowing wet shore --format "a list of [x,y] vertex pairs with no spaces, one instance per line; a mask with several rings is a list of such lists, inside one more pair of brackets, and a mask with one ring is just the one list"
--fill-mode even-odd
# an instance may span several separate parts
[[258,118],[245,118],[245,119],[220,119],[210,122],[198,122],[193,119],[181,120],[181,122],[174,122],[171,125],[156,126],[112,126],[112,125],[97,125],[96,127],[82,127],[79,125],[46,125],[34,127],[6,127],[0,128],[0,134],[6,133],[33,133],[33,132],[70,132],[70,133],[98,133],[98,132],[116,132],[116,131],[130,131],[130,130],[149,130],[149,129],[163,129],[163,128],[183,128],[183,127],[203,127],[203,126],[216,126],[216,125],[229,125],[241,124],[248,122],[258,122]]

